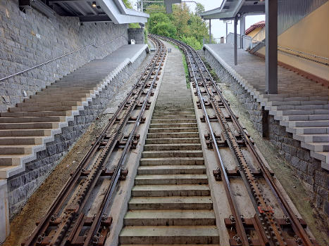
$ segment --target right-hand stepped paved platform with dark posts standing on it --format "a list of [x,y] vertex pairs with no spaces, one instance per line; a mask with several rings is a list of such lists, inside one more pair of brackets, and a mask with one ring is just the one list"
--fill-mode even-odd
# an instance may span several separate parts
[[280,126],[285,127],[287,133],[292,134],[292,138],[300,141],[302,148],[310,151],[311,157],[321,161],[323,169],[329,169],[328,85],[278,66],[278,94],[268,95],[265,92],[263,58],[238,49],[238,64],[234,65],[231,44],[205,44],[204,50],[206,58],[209,52],[211,60],[218,63],[217,70],[228,72],[263,109],[268,110],[269,115],[280,122]]

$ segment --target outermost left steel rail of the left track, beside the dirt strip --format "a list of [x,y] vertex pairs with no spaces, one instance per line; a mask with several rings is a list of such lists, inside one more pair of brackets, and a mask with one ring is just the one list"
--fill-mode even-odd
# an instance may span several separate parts
[[[159,56],[161,55],[161,53],[159,53]],[[137,98],[139,98],[139,96],[141,96],[142,91],[144,91],[144,88],[148,82],[149,77],[151,76],[151,73],[153,71],[153,67],[156,65],[156,59],[153,59],[151,61],[151,63],[147,66],[147,68],[145,68],[144,72],[142,73],[141,77],[139,78],[139,81],[132,87],[132,90],[130,91],[130,93],[128,93],[128,96],[126,96],[125,100],[123,101],[123,103],[120,104],[118,110],[115,112],[115,114],[113,115],[113,117],[110,119],[110,121],[108,122],[108,124],[106,125],[106,127],[104,127],[104,129],[101,131],[101,134],[99,135],[99,137],[97,137],[97,141],[92,145],[92,147],[88,150],[87,154],[85,155],[85,157],[83,157],[82,161],[80,162],[80,164],[77,166],[77,169],[75,169],[74,174],[70,177],[70,179],[68,179],[68,181],[66,182],[66,184],[63,186],[63,188],[61,189],[60,193],[57,195],[56,199],[54,200],[54,202],[51,204],[51,206],[49,207],[48,212],[46,213],[46,215],[43,217],[42,221],[40,221],[40,223],[38,224],[37,228],[35,229],[35,231],[30,235],[30,237],[24,242],[24,245],[34,245],[38,236],[42,235],[42,233],[44,233],[44,231],[46,230],[46,228],[49,227],[49,223],[51,221],[51,219],[56,219],[54,218],[54,214],[56,214],[56,212],[58,211],[58,209],[60,209],[63,206],[63,202],[68,198],[68,195],[70,194],[70,192],[73,190],[73,186],[75,186],[75,184],[78,183],[80,176],[81,176],[81,172],[83,169],[85,169],[87,167],[87,165],[89,164],[89,160],[91,159],[91,157],[94,155],[94,153],[96,153],[97,148],[99,148],[99,145],[101,143],[101,141],[103,141],[106,132],[108,131],[108,129],[111,129],[111,127],[113,127],[113,124],[115,124],[116,122],[116,118],[118,117],[118,115],[121,114],[121,112],[124,111],[125,105],[126,103],[128,103],[128,101],[130,101],[133,92],[135,91],[135,89],[137,89],[139,87],[139,93],[135,93],[138,94],[138,96],[135,96],[135,102],[134,102],[134,107],[135,105],[137,105]],[[148,72],[147,72],[148,71]],[[144,84],[143,86],[141,86],[141,82],[143,79],[143,75],[145,75],[147,73],[147,79],[144,80]],[[151,88],[150,88],[151,90]],[[132,107],[130,107],[132,108]],[[125,114],[125,115],[129,115],[129,114]],[[125,122],[127,122],[127,120],[125,120]],[[122,128],[122,127],[121,127]],[[113,143],[116,143],[118,140],[113,141]],[[114,148],[114,146],[113,146]],[[112,148],[112,149],[113,149]],[[57,242],[54,242],[57,243]]]

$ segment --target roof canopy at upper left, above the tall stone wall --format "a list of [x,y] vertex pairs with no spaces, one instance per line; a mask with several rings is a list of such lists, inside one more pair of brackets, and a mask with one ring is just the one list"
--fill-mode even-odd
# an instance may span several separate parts
[[19,3],[20,8],[36,8],[49,18],[56,13],[78,17],[80,22],[145,23],[149,18],[147,13],[126,8],[122,0],[19,0]]

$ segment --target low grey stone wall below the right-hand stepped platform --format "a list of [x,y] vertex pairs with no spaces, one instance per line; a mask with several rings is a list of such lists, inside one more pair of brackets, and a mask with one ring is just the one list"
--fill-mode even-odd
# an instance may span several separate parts
[[275,120],[273,115],[268,115],[268,110],[263,110],[260,103],[256,102],[209,51],[205,50],[204,55],[218,77],[230,84],[232,92],[249,112],[254,128],[262,136],[268,137],[278,148],[280,154],[291,164],[294,174],[311,190],[313,194],[311,200],[314,205],[328,216],[329,173],[321,168],[321,161],[311,157],[310,151],[302,148],[300,141],[293,139],[292,134],[287,132],[285,127],[280,126],[280,122]]

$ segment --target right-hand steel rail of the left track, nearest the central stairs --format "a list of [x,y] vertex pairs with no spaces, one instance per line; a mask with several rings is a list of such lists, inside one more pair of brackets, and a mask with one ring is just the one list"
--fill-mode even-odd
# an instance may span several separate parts
[[[151,37],[151,35],[150,35],[150,37]],[[151,37],[151,39],[152,39],[152,37]],[[154,41],[156,41],[156,40],[154,40]],[[101,212],[99,214],[97,214],[97,216],[99,216],[99,218],[101,218],[101,216],[103,216],[105,214],[106,209],[108,207],[108,204],[110,202],[110,198],[111,198],[112,194],[114,193],[114,190],[116,189],[116,185],[117,185],[118,179],[120,177],[120,172],[125,166],[125,162],[126,162],[127,157],[128,157],[128,151],[130,150],[132,141],[133,141],[133,139],[136,135],[137,127],[139,126],[139,123],[142,119],[142,115],[144,114],[145,108],[147,106],[149,97],[151,96],[151,91],[152,91],[152,89],[154,87],[154,84],[156,82],[156,77],[159,75],[161,63],[163,63],[163,60],[166,58],[166,48],[163,46],[162,42],[156,42],[156,43],[157,43],[157,46],[160,47],[160,53],[162,55],[160,55],[159,57],[161,57],[161,60],[159,61],[159,66],[156,69],[154,79],[152,79],[151,85],[149,87],[149,91],[147,92],[147,96],[144,98],[144,103],[142,105],[142,108],[141,108],[138,116],[137,116],[134,127],[133,127],[132,131],[130,132],[130,136],[127,140],[127,143],[125,144],[125,148],[123,149],[123,154],[121,155],[120,160],[118,162],[118,165],[117,165],[117,167],[114,171],[114,174],[112,176],[112,179],[111,179],[112,182],[111,182],[111,184],[110,184],[110,186],[109,186],[109,188],[106,192],[105,198],[104,198],[104,200],[101,204],[101,209],[100,209]],[[146,79],[146,80],[148,81],[148,79]],[[89,235],[87,236],[87,239],[85,240],[84,246],[90,245],[90,243],[91,243],[90,240],[92,240],[94,235],[99,231],[100,226],[101,226],[101,220],[98,219],[97,224],[96,225],[93,224],[92,229],[91,229],[92,233],[89,233]]]

